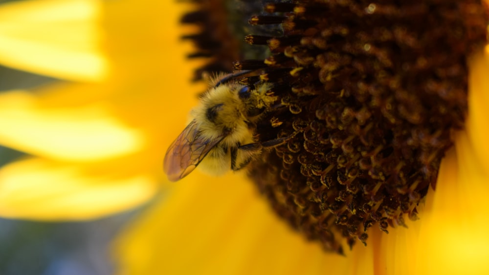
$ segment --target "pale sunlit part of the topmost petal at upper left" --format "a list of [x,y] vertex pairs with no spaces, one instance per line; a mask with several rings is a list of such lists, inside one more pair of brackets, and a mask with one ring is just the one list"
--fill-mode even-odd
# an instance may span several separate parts
[[97,0],[31,0],[0,5],[0,62],[75,81],[108,74]]

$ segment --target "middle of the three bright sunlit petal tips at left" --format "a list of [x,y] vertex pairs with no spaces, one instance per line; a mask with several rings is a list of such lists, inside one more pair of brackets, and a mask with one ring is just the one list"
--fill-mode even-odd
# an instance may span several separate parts
[[0,94],[0,142],[54,159],[93,160],[139,151],[144,136],[111,114],[105,102],[47,108],[36,95]]

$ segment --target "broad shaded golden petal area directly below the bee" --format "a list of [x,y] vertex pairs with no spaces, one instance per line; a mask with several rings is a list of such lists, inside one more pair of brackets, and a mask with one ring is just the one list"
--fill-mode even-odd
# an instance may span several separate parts
[[121,275],[373,274],[370,247],[324,253],[236,175],[194,172],[120,237],[115,253]]

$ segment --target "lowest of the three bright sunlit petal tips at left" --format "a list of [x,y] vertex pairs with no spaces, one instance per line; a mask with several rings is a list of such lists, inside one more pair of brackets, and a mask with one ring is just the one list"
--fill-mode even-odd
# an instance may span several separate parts
[[0,215],[36,220],[84,220],[131,209],[156,192],[143,173],[89,173],[83,166],[27,159],[0,171]]

